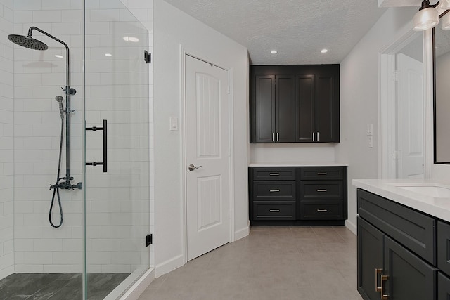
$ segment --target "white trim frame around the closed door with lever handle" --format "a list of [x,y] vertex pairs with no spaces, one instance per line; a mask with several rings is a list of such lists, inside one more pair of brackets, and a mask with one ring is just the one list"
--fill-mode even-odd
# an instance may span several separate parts
[[180,45],[180,61],[181,61],[181,68],[180,68],[180,82],[181,82],[181,122],[182,126],[180,126],[180,133],[181,133],[181,199],[183,200],[183,216],[182,216],[182,231],[183,231],[183,260],[184,263],[187,263],[188,261],[188,234],[187,234],[187,178],[186,178],[186,56],[191,56],[193,58],[197,58],[198,60],[202,60],[205,63],[209,63],[211,65],[215,65],[216,67],[220,67],[223,70],[226,70],[228,72],[229,77],[229,170],[230,170],[230,240],[229,242],[234,241],[234,124],[233,124],[233,68],[226,68],[223,67],[217,63],[212,63],[209,60],[202,58],[202,56],[199,56],[195,54],[195,51],[188,51],[186,48],[184,48],[183,45]]

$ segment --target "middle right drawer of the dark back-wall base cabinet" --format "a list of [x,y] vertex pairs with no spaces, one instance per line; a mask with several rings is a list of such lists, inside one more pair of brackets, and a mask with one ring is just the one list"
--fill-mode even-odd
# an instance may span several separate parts
[[342,200],[342,181],[300,181],[300,200]]

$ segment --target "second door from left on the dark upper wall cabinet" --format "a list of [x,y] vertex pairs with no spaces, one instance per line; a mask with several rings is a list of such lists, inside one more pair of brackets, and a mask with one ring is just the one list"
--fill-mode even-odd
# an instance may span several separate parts
[[295,142],[295,79],[293,75],[275,77],[275,141]]

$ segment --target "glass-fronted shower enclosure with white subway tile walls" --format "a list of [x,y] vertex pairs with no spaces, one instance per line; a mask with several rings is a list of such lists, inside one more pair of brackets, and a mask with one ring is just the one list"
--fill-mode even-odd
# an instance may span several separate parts
[[[0,299],[119,299],[150,268],[148,31],[120,0],[2,1],[0,24]],[[6,39],[30,28],[48,49]]]

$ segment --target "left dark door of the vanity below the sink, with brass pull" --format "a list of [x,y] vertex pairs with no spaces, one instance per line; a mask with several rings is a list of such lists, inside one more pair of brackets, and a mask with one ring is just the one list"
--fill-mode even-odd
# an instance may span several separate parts
[[364,300],[380,299],[385,235],[358,216],[358,292]]

